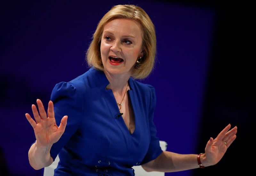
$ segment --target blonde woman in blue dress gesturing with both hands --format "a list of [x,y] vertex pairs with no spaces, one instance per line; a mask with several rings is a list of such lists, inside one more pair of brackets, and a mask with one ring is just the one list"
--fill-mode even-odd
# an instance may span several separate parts
[[39,99],[39,114],[32,105],[36,121],[26,114],[36,136],[28,152],[30,165],[49,166],[59,154],[55,175],[121,176],[134,175],[133,165],[175,172],[219,162],[236,138],[237,127],[229,130],[230,124],[208,141],[205,154],[161,150],[153,123],[155,90],[133,79],[149,75],[155,53],[155,29],[145,11],[134,5],[108,11],[86,55],[92,68],[56,84],[48,115]]

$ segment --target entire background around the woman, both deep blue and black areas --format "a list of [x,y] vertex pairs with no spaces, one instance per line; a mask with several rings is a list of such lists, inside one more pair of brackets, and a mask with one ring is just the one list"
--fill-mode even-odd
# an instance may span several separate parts
[[35,136],[25,113],[37,98],[46,104],[56,83],[88,70],[92,34],[117,4],[139,5],[156,26],[156,68],[142,82],[156,88],[154,122],[167,150],[201,153],[228,123],[238,126],[217,165],[165,175],[247,175],[255,117],[251,4],[195,0],[1,3],[0,175],[42,175],[28,163]]

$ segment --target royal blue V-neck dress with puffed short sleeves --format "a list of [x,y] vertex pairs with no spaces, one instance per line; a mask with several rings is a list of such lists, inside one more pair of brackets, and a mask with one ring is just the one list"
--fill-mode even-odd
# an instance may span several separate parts
[[104,72],[91,68],[83,75],[53,88],[56,123],[68,123],[50,154],[59,154],[55,176],[132,176],[132,166],[157,158],[162,150],[156,137],[153,114],[155,89],[130,78],[128,90],[135,119],[131,134],[125,125]]

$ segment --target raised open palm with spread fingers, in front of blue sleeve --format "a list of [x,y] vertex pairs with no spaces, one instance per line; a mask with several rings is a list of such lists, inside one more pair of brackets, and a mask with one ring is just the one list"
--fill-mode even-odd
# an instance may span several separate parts
[[64,133],[68,116],[66,115],[61,119],[60,126],[58,127],[54,118],[52,101],[48,103],[48,117],[42,101],[37,99],[36,103],[40,114],[38,114],[36,105],[32,105],[32,112],[36,121],[34,121],[28,113],[26,113],[25,116],[34,129],[37,147],[51,147]]

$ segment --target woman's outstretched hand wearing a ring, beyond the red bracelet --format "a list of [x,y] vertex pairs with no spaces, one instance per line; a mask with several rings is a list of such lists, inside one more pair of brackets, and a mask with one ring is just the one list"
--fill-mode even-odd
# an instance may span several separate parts
[[237,127],[235,126],[229,130],[230,127],[231,125],[228,124],[215,139],[211,137],[207,142],[205,155],[203,156],[204,158],[202,158],[204,160],[204,162],[202,161],[204,166],[215,165],[218,163],[228,147],[236,139]]

